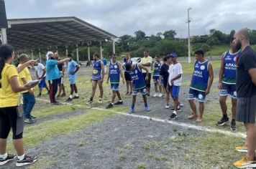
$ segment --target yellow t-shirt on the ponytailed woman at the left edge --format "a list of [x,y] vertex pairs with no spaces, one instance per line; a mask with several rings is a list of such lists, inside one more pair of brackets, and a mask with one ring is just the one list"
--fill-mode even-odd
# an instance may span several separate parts
[[1,72],[0,107],[13,107],[18,105],[19,93],[12,91],[9,79],[17,76],[16,67],[12,64],[5,64]]

